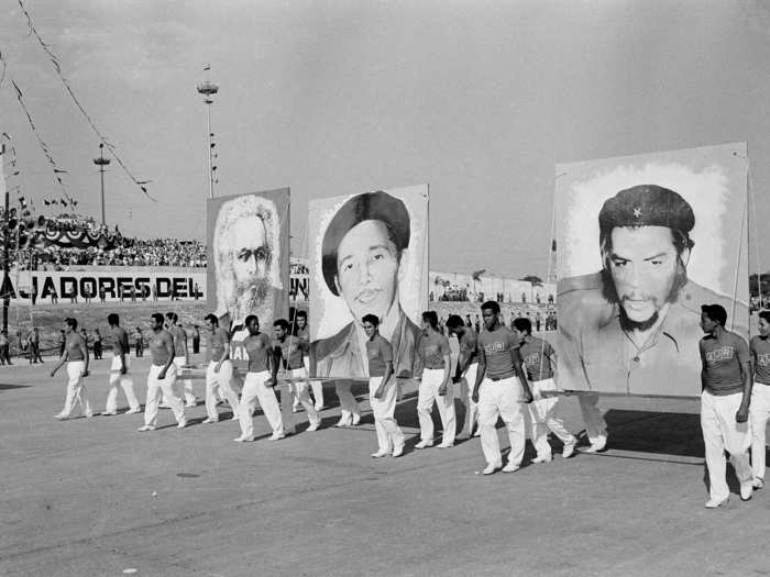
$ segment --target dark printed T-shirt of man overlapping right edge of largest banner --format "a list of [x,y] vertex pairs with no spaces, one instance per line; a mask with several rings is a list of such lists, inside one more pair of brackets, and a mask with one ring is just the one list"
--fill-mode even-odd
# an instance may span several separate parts
[[717,396],[740,392],[744,388],[740,364],[748,363],[750,358],[746,341],[724,331],[718,339],[704,336],[700,346],[706,390]]

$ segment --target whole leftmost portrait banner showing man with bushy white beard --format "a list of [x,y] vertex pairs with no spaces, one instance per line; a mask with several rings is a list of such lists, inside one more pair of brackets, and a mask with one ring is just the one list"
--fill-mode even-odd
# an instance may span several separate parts
[[288,318],[289,189],[217,197],[207,203],[208,304],[232,331],[232,358],[244,321],[256,314],[272,336],[273,321]]

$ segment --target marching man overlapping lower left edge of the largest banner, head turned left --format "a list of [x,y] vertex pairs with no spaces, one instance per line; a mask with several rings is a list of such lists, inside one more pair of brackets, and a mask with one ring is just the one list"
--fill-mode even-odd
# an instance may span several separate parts
[[575,453],[578,440],[557,418],[557,397],[543,397],[542,393],[556,390],[553,367],[557,365],[557,354],[547,341],[532,336],[532,321],[519,318],[514,321],[514,334],[519,339],[519,354],[524,359],[527,378],[535,400],[529,404],[529,417],[532,426],[532,445],[538,452],[532,463],[551,461],[551,445],[548,442],[550,429],[564,443],[561,456],[569,458]]

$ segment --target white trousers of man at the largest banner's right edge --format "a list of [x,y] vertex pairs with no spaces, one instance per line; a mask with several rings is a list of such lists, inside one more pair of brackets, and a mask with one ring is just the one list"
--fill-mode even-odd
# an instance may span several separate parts
[[751,418],[749,417],[746,423],[735,421],[741,398],[743,392],[716,396],[704,390],[701,393],[701,429],[706,447],[710,495],[717,501],[729,497],[725,451],[730,454],[730,464],[738,481],[746,482],[752,478],[748,455],[751,445]]

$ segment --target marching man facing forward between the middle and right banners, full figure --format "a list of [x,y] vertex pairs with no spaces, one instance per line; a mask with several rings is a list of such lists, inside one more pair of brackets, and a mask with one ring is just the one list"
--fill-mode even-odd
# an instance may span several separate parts
[[482,304],[486,331],[479,335],[479,373],[473,387],[473,400],[479,403],[482,450],[486,459],[484,475],[492,475],[503,466],[495,429],[498,417],[505,422],[510,441],[508,464],[503,467],[503,473],[514,473],[521,466],[525,425],[519,400],[532,400],[527,376],[521,370],[518,340],[501,324],[499,311],[499,304],[493,300]]

